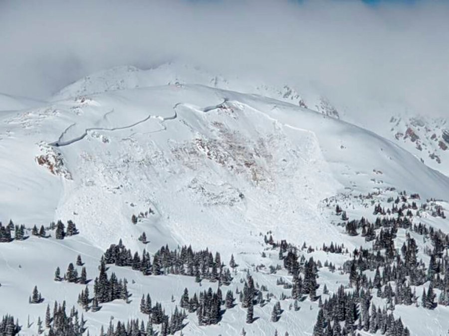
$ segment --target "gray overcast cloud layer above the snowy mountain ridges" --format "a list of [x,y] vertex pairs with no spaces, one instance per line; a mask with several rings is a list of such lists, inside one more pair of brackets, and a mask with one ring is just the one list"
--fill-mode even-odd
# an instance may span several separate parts
[[448,17],[448,1],[1,1],[0,92],[178,58],[449,115]]

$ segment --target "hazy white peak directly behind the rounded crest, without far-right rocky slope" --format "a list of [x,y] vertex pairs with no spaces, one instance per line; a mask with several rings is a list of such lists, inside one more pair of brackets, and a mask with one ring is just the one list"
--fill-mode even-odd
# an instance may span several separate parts
[[313,90],[298,92],[294,85],[285,82],[269,81],[267,83],[261,78],[248,79],[235,75],[214,74],[206,69],[181,62],[164,63],[148,70],[141,70],[134,66],[121,66],[100,71],[62,89],[54,95],[54,100],[106,91],[187,83],[258,94],[339,118],[335,107]]

